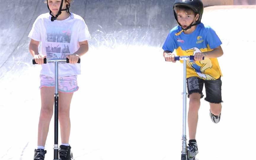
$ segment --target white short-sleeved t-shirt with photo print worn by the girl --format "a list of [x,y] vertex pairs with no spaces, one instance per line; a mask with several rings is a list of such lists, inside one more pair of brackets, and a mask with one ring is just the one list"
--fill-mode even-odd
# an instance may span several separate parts
[[[91,35],[84,19],[76,14],[65,20],[51,21],[49,13],[37,17],[28,37],[41,42],[41,54],[50,58],[66,58],[66,54],[73,54],[79,49],[79,42],[89,40]],[[40,51],[40,50],[39,50]],[[55,64],[42,64],[40,74],[54,77]],[[81,74],[79,63],[61,63],[58,65],[59,77]]]

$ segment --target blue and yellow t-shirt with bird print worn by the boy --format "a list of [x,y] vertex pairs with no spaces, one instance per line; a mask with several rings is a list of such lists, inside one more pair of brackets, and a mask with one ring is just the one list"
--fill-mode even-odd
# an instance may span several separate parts
[[[173,52],[179,56],[194,55],[211,51],[222,44],[215,31],[200,23],[196,30],[190,34],[175,35],[182,30],[180,26],[174,27],[167,36],[163,50]],[[182,62],[182,61],[181,61]],[[183,62],[182,62],[183,63]],[[217,58],[205,58],[202,61],[187,61],[187,78],[199,77],[204,80],[215,80],[222,76]]]

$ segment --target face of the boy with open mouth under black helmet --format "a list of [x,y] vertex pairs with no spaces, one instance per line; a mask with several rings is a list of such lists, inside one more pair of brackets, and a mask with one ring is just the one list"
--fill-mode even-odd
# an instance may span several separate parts
[[177,19],[180,25],[186,29],[192,22],[198,20],[199,14],[195,15],[193,13],[186,13],[185,11],[177,12]]

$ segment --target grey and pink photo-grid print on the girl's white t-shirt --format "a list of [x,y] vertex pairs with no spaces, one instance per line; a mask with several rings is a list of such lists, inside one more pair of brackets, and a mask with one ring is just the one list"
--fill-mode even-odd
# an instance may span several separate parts
[[[66,58],[70,53],[72,31],[67,27],[46,27],[46,54],[47,58]],[[62,62],[65,63],[65,62]]]

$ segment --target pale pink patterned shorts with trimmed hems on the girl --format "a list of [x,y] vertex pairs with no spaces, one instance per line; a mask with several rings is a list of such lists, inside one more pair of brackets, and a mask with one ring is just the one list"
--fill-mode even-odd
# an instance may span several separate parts
[[[73,93],[78,90],[77,75],[59,77],[58,90],[64,93]],[[42,87],[55,87],[55,80],[53,77],[40,74],[40,89]]]

